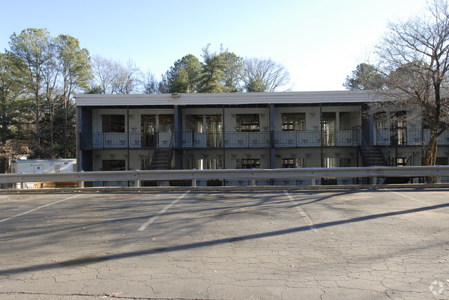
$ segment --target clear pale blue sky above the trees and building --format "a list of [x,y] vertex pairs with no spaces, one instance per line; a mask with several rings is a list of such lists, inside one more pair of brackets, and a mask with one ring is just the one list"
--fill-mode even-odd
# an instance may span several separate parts
[[184,55],[201,60],[204,46],[222,44],[241,57],[283,63],[292,90],[343,90],[387,21],[425,7],[426,0],[0,0],[0,51],[13,32],[46,28],[160,79]]

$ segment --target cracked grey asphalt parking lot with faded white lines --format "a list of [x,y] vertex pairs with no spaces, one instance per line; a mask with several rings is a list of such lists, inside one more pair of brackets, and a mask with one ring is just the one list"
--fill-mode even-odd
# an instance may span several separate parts
[[0,299],[449,299],[448,190],[0,194]]

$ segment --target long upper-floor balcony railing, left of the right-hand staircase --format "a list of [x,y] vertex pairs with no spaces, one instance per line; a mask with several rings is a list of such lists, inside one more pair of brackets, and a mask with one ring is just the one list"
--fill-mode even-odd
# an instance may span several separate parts
[[[357,146],[358,130],[274,131],[274,132],[171,132],[81,133],[82,149],[164,148],[173,139],[176,148],[296,148],[319,146]],[[129,144],[128,144],[129,138]]]

